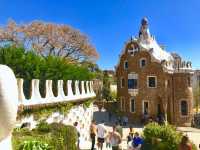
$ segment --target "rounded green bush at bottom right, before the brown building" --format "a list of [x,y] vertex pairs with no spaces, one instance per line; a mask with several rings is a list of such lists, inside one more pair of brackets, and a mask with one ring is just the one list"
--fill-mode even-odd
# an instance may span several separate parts
[[182,133],[177,132],[173,126],[158,125],[157,123],[148,124],[143,134],[145,139],[144,146],[148,147],[149,150],[177,150],[182,138]]

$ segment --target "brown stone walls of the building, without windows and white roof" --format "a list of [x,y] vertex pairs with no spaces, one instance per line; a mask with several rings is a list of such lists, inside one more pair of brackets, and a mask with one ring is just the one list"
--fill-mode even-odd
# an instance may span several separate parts
[[[146,66],[140,67],[140,59],[146,59]],[[124,68],[124,62],[128,61],[128,68]],[[128,90],[128,74],[138,74],[138,90],[135,94],[130,94]],[[119,65],[116,69],[117,91],[121,100],[121,108],[124,115],[127,115],[131,122],[140,122],[143,117],[143,101],[149,103],[149,116],[154,119],[158,113],[158,104],[161,105],[162,113],[166,113],[168,121],[172,124],[190,126],[193,116],[193,96],[192,87],[188,85],[191,78],[190,72],[168,73],[160,62],[152,59],[147,51],[138,51],[130,55],[128,51],[120,57]],[[157,87],[147,87],[147,76],[157,77]],[[124,87],[121,87],[121,78],[125,79]],[[135,112],[130,112],[130,100],[135,99]],[[181,116],[180,101],[187,100],[188,115]]]

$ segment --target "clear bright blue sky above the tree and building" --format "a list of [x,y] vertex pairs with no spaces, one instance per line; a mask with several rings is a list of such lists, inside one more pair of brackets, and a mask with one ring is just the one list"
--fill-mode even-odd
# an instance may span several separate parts
[[200,69],[200,0],[0,0],[1,26],[14,19],[77,28],[96,47],[101,69],[114,69],[144,16],[158,43]]

